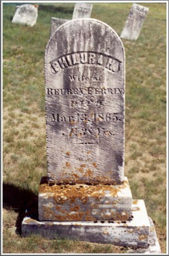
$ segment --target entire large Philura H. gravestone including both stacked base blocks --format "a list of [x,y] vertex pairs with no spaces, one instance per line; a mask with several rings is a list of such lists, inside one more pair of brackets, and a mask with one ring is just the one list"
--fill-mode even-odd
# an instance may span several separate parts
[[132,200],[124,177],[125,51],[111,27],[84,18],[52,34],[45,105],[47,177],[39,186],[38,220],[28,212],[22,236],[159,252],[144,202]]

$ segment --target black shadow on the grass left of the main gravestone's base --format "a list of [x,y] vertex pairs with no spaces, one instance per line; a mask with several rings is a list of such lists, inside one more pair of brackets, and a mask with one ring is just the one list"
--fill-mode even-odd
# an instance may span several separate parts
[[27,215],[38,218],[38,196],[32,191],[16,187],[12,184],[3,184],[3,207],[13,209],[18,213],[16,220],[16,232],[21,234],[21,223]]

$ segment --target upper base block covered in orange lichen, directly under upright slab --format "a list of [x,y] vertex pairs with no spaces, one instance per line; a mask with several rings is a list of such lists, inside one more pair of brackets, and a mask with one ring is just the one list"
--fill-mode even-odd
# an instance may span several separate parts
[[131,219],[132,195],[127,178],[121,185],[39,186],[39,220],[96,221]]

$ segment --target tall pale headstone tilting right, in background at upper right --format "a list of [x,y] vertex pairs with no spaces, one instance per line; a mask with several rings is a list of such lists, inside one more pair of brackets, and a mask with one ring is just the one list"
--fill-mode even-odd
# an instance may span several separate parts
[[137,40],[148,11],[147,7],[133,4],[120,37]]

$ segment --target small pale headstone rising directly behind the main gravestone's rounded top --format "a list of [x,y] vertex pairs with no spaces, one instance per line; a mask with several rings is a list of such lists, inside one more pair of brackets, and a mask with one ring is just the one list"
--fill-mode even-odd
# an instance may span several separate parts
[[75,18],[90,18],[92,5],[76,3],[72,19]]

